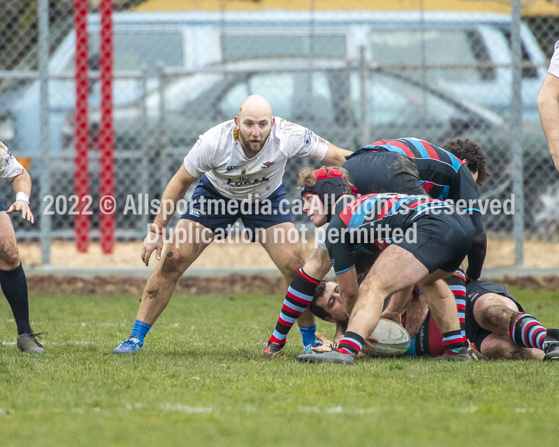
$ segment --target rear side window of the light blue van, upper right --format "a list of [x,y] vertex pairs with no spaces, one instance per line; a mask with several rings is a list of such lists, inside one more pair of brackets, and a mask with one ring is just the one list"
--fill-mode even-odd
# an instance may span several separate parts
[[[491,62],[489,53],[479,32],[473,29],[412,29],[375,30],[369,34],[372,60],[378,64],[428,65],[474,65]],[[492,80],[495,71],[491,67],[479,68],[430,68],[428,78],[442,78],[455,82],[479,82]],[[406,75],[418,77],[420,70]]]

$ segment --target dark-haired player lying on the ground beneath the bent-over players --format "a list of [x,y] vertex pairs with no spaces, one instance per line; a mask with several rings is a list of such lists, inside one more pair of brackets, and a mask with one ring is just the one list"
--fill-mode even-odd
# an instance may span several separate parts
[[[490,359],[559,361],[559,330],[546,330],[535,317],[526,314],[507,288],[488,281],[470,281],[464,286],[461,270],[451,278],[455,293],[460,293],[459,288],[464,290],[466,337],[479,353]],[[456,286],[460,283],[464,285]],[[315,316],[337,326],[349,321],[333,281],[321,281],[309,309]],[[444,352],[442,334],[419,288],[414,288],[410,296],[402,314],[402,325],[412,337],[406,356],[437,357]],[[328,351],[332,342],[322,335],[318,338],[324,346],[314,350]]]

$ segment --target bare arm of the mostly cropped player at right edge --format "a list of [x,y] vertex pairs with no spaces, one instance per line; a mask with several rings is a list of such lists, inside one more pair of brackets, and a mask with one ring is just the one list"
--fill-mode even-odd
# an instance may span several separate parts
[[553,163],[559,170],[559,78],[547,73],[537,96],[539,119],[546,135]]

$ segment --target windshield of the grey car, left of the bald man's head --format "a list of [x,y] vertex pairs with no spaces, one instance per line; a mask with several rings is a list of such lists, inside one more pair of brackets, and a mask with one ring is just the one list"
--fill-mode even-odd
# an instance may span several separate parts
[[[198,73],[170,82],[165,87],[165,110],[170,112],[184,110],[190,101],[202,96],[223,78],[224,75],[216,73]],[[158,108],[159,90],[147,95],[145,104],[148,109]]]

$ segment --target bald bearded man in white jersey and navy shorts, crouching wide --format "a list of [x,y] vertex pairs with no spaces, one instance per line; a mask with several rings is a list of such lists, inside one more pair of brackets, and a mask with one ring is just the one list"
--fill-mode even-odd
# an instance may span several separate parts
[[[161,210],[142,244],[140,257],[145,265],[154,251],[157,261],[161,260],[164,233],[177,202],[192,183],[200,182],[173,234],[166,234],[170,242],[144,288],[130,337],[113,352],[140,350],[178,279],[212,240],[226,237],[238,219],[245,226],[245,239],[260,242],[289,286],[305,256],[300,241],[287,237],[295,226],[283,186],[286,161],[310,156],[340,165],[348,154],[309,129],[273,117],[270,103],[259,95],[245,98],[234,119],[201,135],[164,191]],[[307,311],[298,323],[312,329],[314,316]]]

